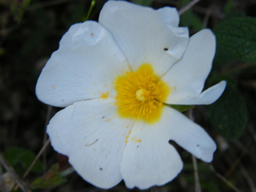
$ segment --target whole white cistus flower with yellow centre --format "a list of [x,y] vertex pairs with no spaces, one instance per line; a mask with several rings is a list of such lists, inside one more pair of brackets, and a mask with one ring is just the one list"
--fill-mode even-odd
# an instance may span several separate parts
[[183,167],[174,140],[211,162],[216,144],[204,129],[166,104],[207,105],[225,89],[203,91],[215,36],[189,38],[175,8],[108,1],[99,22],[72,25],[36,84],[42,102],[65,107],[47,126],[53,148],[84,180],[111,188],[164,185]]

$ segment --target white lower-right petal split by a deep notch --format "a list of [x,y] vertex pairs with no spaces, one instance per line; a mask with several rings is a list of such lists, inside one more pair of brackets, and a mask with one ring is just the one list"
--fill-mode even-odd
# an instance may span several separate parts
[[175,109],[164,107],[156,124],[136,121],[133,125],[121,163],[128,188],[164,185],[179,174],[183,163],[169,140],[205,162],[212,161],[216,150],[216,144],[202,127]]

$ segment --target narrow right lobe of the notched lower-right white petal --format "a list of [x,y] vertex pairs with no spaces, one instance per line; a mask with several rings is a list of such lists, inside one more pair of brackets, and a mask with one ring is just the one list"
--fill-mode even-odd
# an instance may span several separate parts
[[164,132],[197,158],[211,162],[216,144],[204,129],[173,108],[164,111],[168,126]]

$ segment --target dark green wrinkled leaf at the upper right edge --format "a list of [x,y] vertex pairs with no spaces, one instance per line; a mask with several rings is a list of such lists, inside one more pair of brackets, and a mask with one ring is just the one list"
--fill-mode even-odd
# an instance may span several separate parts
[[[226,60],[232,58],[256,64],[256,19],[237,17],[224,20],[214,29],[217,53]],[[216,54],[216,56],[218,56]]]

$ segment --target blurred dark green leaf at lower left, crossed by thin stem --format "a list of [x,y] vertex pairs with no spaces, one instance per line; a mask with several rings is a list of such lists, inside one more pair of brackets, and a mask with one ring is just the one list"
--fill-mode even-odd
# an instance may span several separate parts
[[[14,167],[15,170],[16,168],[19,170],[21,166],[23,168],[22,172],[24,172],[24,170],[27,170],[30,164],[36,158],[36,155],[30,150],[12,147],[5,151],[4,157],[9,162],[9,164]],[[43,172],[42,162],[37,160],[31,171],[38,173]]]

